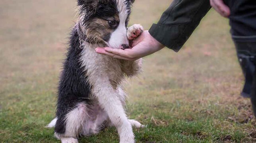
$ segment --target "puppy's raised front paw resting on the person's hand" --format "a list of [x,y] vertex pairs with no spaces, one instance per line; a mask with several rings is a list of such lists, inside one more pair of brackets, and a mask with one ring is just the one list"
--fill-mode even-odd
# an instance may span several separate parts
[[140,24],[133,24],[127,30],[127,38],[129,40],[134,40],[138,36],[140,36],[140,34],[142,34],[143,31],[144,29]]

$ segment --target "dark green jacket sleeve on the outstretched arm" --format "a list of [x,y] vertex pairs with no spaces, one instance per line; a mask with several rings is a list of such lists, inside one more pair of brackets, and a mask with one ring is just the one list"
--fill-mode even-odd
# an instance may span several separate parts
[[210,8],[209,0],[174,0],[149,33],[178,52]]

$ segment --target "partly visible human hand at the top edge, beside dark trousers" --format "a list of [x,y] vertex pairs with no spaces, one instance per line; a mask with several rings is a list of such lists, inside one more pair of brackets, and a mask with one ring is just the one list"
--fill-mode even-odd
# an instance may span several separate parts
[[223,3],[223,0],[210,0],[210,4],[223,17],[229,17],[230,9]]

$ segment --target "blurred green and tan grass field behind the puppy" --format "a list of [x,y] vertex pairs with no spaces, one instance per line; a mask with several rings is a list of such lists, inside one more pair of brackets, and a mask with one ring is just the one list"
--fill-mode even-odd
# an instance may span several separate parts
[[[130,24],[156,23],[171,0],[136,0]],[[0,142],[52,143],[56,87],[75,0],[0,1]],[[250,100],[228,19],[211,10],[184,47],[144,58],[144,72],[128,79],[128,116],[138,143],[256,142]],[[118,143],[115,128],[82,143]]]

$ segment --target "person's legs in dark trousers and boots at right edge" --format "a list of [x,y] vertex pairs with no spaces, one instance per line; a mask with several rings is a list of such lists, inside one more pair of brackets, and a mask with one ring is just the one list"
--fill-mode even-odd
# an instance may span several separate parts
[[245,77],[245,86],[241,93],[251,97],[254,115],[256,115],[256,3],[255,0],[224,0],[230,8],[229,24],[236,45],[237,56]]

